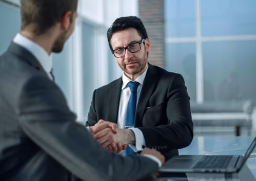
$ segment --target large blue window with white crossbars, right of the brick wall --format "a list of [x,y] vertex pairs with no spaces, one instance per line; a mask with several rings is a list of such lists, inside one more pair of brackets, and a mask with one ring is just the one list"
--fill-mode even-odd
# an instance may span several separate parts
[[256,2],[164,3],[166,68],[183,74],[191,100],[256,100]]

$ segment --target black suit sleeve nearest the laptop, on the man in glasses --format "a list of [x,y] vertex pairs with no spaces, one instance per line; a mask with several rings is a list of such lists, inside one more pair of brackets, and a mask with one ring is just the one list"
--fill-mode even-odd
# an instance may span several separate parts
[[[165,82],[168,84],[168,82]],[[164,85],[166,86],[166,85]],[[139,127],[147,147],[166,153],[171,149],[188,146],[193,138],[189,96],[183,77],[175,74],[167,89],[166,115],[168,124]],[[154,120],[146,120],[154,122]],[[159,146],[157,146],[159,145]]]

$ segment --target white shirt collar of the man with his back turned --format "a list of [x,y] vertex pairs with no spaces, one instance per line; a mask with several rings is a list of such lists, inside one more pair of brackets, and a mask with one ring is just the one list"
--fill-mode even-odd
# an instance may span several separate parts
[[44,71],[46,71],[48,74],[50,73],[52,69],[52,59],[42,47],[40,47],[32,40],[24,37],[20,33],[18,33],[14,37],[13,42],[19,44],[20,46],[31,52],[38,59]]

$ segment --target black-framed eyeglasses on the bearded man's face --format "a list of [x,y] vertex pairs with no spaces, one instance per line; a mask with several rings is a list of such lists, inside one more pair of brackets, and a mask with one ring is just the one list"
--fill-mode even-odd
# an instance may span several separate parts
[[131,53],[138,52],[141,50],[141,43],[144,43],[144,42],[145,42],[145,39],[143,38],[141,41],[132,43],[127,47],[112,50],[111,53],[113,53],[116,58],[124,57],[126,49],[129,50],[129,52]]

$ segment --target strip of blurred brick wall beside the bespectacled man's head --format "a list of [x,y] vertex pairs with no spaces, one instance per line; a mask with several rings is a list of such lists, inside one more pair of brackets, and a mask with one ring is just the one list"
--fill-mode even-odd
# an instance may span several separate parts
[[151,43],[148,62],[159,67],[165,65],[164,57],[164,0],[139,0],[139,16]]

